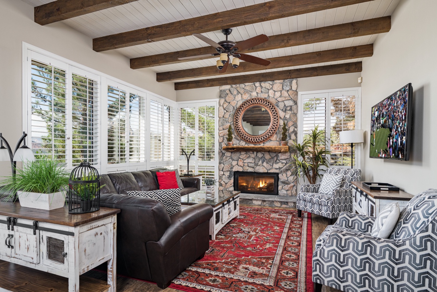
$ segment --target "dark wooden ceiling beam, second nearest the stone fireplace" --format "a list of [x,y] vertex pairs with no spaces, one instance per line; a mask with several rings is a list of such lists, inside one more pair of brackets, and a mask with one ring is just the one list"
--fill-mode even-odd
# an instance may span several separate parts
[[259,71],[259,70],[266,70],[266,69],[277,69],[277,68],[284,68],[284,67],[293,67],[293,66],[364,58],[364,57],[370,57],[372,55],[373,55],[373,44],[369,44],[363,46],[346,47],[342,49],[330,49],[330,50],[319,51],[319,52],[271,58],[268,59],[271,61],[270,65],[268,66],[261,66],[249,62],[241,62],[240,66],[237,69],[234,69],[231,66],[229,66],[228,70],[224,74],[223,73],[220,74],[217,67],[215,66],[161,72],[161,73],[156,73],[156,81],[158,82],[176,81],[182,79],[209,77],[209,76],[225,75],[225,74],[232,74],[232,73],[243,73],[243,72]]

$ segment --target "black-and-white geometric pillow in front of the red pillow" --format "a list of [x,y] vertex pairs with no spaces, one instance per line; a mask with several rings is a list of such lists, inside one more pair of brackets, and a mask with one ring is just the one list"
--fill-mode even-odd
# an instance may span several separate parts
[[168,215],[173,215],[180,211],[180,189],[167,189],[167,190],[131,190],[128,191],[128,195],[147,197],[153,200],[161,202],[166,209]]

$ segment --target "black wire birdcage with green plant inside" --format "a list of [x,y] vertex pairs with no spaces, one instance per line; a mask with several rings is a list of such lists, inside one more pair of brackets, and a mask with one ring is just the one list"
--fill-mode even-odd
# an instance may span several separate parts
[[100,209],[100,176],[89,162],[81,162],[70,174],[68,212],[89,213]]

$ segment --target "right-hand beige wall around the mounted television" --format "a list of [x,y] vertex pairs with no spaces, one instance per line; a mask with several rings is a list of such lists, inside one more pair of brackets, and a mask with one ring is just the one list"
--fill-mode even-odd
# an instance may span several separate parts
[[[390,32],[378,36],[363,62],[364,179],[391,183],[416,194],[437,188],[437,1],[402,0]],[[369,158],[371,107],[411,82],[413,131],[409,161]]]

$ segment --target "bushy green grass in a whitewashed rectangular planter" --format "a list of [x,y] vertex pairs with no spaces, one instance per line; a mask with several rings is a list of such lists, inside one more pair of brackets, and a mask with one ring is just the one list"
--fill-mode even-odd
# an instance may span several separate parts
[[6,199],[17,193],[22,207],[52,210],[64,206],[69,178],[65,165],[42,156],[24,162],[16,171],[15,176],[6,176],[2,181],[1,190],[10,193]]

